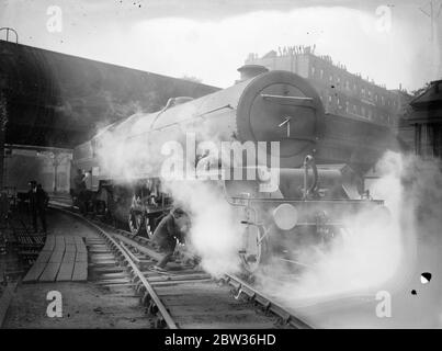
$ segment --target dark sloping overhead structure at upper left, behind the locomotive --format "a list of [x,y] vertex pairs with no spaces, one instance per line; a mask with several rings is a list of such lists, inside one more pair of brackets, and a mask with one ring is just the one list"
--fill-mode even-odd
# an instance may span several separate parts
[[75,147],[97,128],[216,87],[0,41],[7,143]]

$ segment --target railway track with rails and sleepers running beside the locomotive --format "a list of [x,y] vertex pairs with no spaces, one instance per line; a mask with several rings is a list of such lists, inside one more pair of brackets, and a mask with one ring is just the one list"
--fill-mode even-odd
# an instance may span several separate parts
[[87,223],[99,234],[86,242],[97,283],[109,288],[133,287],[155,328],[311,328],[236,275],[214,279],[185,262],[167,273],[151,271],[160,253],[148,239],[134,238],[61,206],[52,207]]

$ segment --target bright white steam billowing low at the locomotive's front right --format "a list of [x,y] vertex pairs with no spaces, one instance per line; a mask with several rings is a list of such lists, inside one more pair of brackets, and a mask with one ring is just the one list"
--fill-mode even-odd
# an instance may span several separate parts
[[[279,286],[277,292],[272,291],[273,295],[292,301],[329,298],[361,290],[366,292],[397,271],[404,253],[401,162],[399,155],[387,154],[378,163],[383,177],[371,189],[374,199],[385,201],[390,219],[386,223],[382,214],[362,211],[343,218],[347,229],[332,240],[331,247],[296,248],[301,252],[298,260],[308,268],[296,276],[296,281]],[[272,285],[265,284],[269,272],[274,278],[286,274],[288,270],[286,265],[273,262],[260,276],[262,285]]]

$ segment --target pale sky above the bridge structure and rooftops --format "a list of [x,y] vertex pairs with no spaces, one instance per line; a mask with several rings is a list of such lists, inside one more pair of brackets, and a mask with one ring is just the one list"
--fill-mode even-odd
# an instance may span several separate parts
[[[442,13],[431,42],[430,1],[0,0],[0,27],[21,44],[220,88],[249,53],[316,45],[351,72],[412,91],[442,78]],[[442,0],[432,3],[435,18]]]

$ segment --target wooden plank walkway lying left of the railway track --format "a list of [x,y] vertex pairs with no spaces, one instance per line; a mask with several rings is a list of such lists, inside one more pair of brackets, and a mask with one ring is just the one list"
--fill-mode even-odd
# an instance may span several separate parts
[[82,238],[79,236],[49,235],[23,282],[79,282],[87,280],[88,251]]

